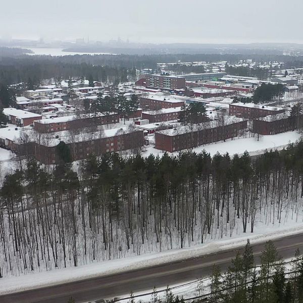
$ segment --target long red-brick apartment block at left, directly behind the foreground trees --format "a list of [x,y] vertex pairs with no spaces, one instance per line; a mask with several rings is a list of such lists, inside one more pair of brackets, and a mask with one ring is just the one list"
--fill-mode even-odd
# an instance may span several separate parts
[[21,129],[0,129],[0,146],[21,155],[33,156],[43,164],[61,162],[58,151],[60,141],[65,142],[70,150],[72,161],[87,158],[90,154],[100,156],[106,153],[123,150],[138,150],[143,146],[143,130],[134,128],[115,128],[104,131],[89,132],[75,135],[72,139],[64,132],[56,136],[45,134],[38,141],[24,142],[21,140]]

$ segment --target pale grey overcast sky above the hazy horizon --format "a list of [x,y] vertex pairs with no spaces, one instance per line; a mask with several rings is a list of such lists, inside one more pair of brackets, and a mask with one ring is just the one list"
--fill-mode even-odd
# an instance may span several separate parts
[[302,0],[1,0],[0,36],[303,42]]

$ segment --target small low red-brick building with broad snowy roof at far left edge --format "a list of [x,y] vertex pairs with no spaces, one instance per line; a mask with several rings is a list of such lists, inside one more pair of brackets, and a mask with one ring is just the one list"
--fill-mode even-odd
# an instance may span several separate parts
[[28,126],[33,124],[35,120],[42,119],[41,115],[14,108],[3,109],[3,113],[7,116],[9,123],[17,126]]

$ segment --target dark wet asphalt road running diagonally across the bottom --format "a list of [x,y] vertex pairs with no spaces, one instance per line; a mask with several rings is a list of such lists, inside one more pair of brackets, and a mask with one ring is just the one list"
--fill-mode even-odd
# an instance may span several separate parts
[[[274,241],[279,255],[283,258],[292,258],[296,248],[303,251],[303,233],[280,238]],[[264,243],[252,245],[256,263]],[[220,265],[225,270],[235,257],[237,247],[231,250],[220,251],[217,254],[204,255],[195,259],[188,259],[157,267],[144,268],[136,271],[124,272],[112,276],[104,276],[89,280],[71,282],[58,286],[32,289],[0,296],[1,303],[67,303],[73,296],[76,303],[83,301],[93,302],[96,299],[119,297],[131,290],[150,291],[154,286],[165,287],[177,283],[194,280],[198,277],[209,276],[213,264]],[[1,282],[1,281],[0,281]]]

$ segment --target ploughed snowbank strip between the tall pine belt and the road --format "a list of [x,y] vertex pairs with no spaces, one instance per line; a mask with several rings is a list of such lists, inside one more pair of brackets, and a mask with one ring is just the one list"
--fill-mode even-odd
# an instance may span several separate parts
[[[299,234],[303,231],[301,216],[302,214],[297,220],[289,220],[283,222],[283,224],[278,224],[278,222],[276,222],[275,225],[269,221],[259,221],[253,234],[243,234],[239,232],[238,236],[234,238],[213,240],[209,243],[195,245],[190,248],[171,249],[157,252],[155,254],[145,254],[136,257],[122,258],[119,260],[92,263],[79,267],[69,267],[47,272],[21,275],[19,277],[12,276],[4,278],[0,283],[0,294],[111,275],[189,258],[197,258],[206,254],[212,254],[216,251],[244,246],[247,238],[250,239],[251,244],[256,244],[287,235]],[[238,224],[240,226],[241,222],[239,221]]]

